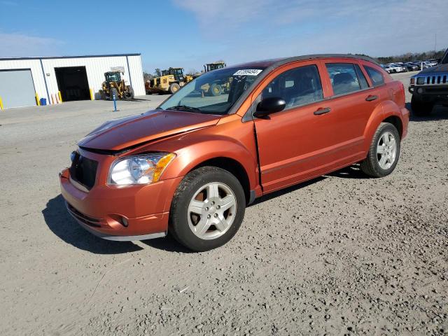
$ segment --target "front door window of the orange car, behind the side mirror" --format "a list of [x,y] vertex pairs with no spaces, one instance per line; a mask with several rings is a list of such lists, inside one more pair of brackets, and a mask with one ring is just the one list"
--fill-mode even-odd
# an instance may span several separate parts
[[286,109],[323,99],[317,66],[300,66],[276,76],[261,92],[262,99],[267,97],[281,97]]

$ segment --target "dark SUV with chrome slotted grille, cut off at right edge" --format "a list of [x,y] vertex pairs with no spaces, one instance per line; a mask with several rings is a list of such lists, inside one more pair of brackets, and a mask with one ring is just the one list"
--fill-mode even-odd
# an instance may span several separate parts
[[427,116],[437,104],[448,106],[448,49],[437,66],[411,77],[409,92],[415,116]]

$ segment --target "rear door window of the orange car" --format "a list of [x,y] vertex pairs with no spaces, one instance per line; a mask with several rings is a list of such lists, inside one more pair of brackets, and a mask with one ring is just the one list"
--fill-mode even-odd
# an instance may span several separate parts
[[361,86],[354,64],[327,63],[326,66],[335,95],[360,90]]

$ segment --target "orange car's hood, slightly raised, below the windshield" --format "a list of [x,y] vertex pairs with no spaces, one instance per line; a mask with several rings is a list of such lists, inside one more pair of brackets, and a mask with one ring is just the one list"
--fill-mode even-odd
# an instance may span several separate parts
[[78,141],[78,146],[121,151],[162,137],[216,125],[221,116],[184,111],[155,110],[109,120]]

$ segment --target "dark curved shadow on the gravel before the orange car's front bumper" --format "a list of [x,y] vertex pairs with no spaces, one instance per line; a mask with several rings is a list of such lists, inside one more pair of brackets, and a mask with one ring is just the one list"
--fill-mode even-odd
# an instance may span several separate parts
[[42,211],[48,228],[67,244],[95,254],[120,254],[143,248],[132,241],[110,241],[87,232],[69,215],[62,195],[49,200]]

